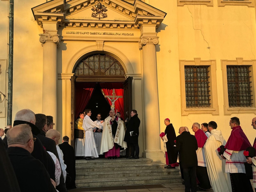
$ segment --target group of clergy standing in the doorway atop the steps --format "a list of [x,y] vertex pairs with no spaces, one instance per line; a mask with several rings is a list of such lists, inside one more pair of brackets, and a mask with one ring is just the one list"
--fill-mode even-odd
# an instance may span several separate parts
[[91,110],[79,113],[75,121],[75,156],[77,159],[94,160],[98,157],[139,159],[139,125],[136,110],[131,111],[129,121],[123,121],[121,113],[111,109],[109,116],[91,120]]

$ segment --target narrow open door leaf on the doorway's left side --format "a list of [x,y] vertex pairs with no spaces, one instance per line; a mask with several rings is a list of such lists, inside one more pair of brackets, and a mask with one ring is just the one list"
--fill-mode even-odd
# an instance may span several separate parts
[[75,76],[71,77],[71,138],[70,145],[75,149],[74,125],[75,125]]

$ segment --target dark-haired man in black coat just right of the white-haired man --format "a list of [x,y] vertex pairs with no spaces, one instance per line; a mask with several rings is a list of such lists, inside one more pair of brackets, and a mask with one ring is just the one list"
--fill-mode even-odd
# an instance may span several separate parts
[[[37,135],[37,137],[42,142],[43,146],[45,147],[45,150],[53,153],[59,160],[59,155],[57,152],[55,141],[50,138],[45,137],[45,134],[47,132],[47,117],[46,117],[46,115],[45,114],[35,114],[35,119],[36,119],[35,125],[40,129],[40,133]],[[59,179],[59,185],[56,187],[56,189],[59,192],[67,191],[62,171],[61,171],[61,177]]]

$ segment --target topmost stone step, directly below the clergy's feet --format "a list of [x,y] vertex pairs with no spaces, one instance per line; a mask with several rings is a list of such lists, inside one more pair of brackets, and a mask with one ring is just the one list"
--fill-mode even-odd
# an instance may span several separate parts
[[126,158],[118,158],[118,159],[95,159],[95,160],[76,160],[75,164],[78,165],[116,165],[116,164],[136,164],[136,163],[151,163],[151,159],[149,158],[139,158],[139,159],[126,159]]

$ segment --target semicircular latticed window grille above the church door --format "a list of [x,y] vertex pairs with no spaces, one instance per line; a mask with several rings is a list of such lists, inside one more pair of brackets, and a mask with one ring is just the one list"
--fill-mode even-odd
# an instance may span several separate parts
[[105,54],[90,55],[80,61],[74,70],[75,76],[124,76],[122,65]]

